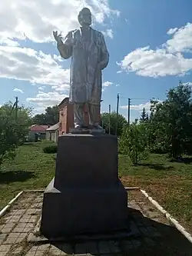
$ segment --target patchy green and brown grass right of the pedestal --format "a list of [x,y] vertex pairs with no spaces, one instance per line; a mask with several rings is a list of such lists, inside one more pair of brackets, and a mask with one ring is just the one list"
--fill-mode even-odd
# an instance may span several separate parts
[[192,232],[192,158],[170,162],[166,155],[151,154],[134,166],[119,157],[119,175],[125,186],[138,185]]

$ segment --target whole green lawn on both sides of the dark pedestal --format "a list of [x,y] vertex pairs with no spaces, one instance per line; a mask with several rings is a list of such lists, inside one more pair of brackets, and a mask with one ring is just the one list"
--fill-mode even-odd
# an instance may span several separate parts
[[[26,144],[18,148],[13,161],[0,171],[0,210],[24,189],[45,188],[55,174],[55,155],[42,148],[50,142]],[[131,165],[119,156],[119,175],[125,186],[139,185],[174,218],[192,232],[192,158],[184,163],[170,162],[165,155],[150,155],[141,165]]]

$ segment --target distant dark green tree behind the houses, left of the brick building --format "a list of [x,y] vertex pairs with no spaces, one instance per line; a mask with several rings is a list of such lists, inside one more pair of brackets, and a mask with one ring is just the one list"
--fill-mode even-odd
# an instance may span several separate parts
[[32,118],[33,124],[36,125],[55,125],[58,123],[58,106],[48,107],[45,114],[38,114]]

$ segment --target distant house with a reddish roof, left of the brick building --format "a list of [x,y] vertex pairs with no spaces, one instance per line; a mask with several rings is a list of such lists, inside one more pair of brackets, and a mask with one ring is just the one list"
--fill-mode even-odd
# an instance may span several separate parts
[[31,125],[30,131],[28,133],[28,141],[35,141],[36,136],[38,138],[46,138],[46,129],[49,128],[49,125]]

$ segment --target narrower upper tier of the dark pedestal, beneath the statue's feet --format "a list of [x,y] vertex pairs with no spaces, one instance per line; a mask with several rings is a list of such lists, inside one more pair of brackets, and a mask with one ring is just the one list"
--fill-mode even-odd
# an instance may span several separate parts
[[115,136],[68,134],[58,138],[55,188],[106,188],[117,181]]

